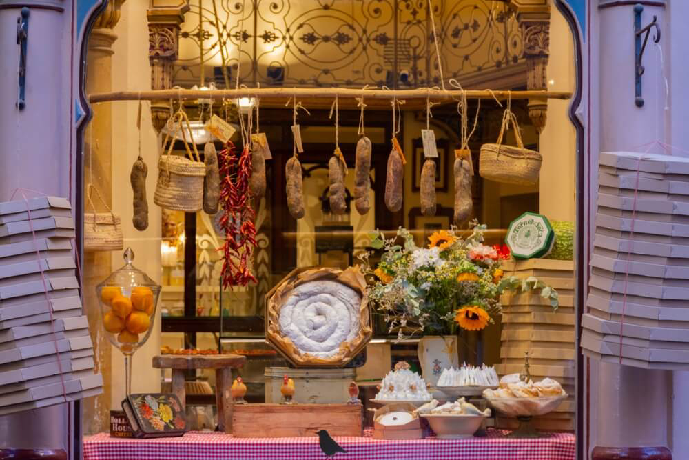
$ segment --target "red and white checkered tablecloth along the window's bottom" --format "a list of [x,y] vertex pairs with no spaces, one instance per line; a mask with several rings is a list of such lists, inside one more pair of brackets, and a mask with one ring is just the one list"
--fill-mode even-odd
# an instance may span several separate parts
[[[574,460],[573,434],[537,439],[511,439],[489,430],[488,437],[469,439],[378,440],[335,437],[347,454],[335,460]],[[157,439],[85,437],[84,460],[324,460],[317,437],[234,438],[217,432],[189,432]]]

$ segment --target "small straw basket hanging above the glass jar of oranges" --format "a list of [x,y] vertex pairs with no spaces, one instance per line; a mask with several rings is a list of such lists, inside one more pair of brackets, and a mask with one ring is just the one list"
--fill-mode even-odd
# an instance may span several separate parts
[[[107,206],[103,197],[92,184],[87,186],[88,203],[94,212],[84,214],[84,250],[86,251],[119,251],[124,248],[120,217]],[[96,191],[101,203],[109,212],[96,212],[91,199]]]

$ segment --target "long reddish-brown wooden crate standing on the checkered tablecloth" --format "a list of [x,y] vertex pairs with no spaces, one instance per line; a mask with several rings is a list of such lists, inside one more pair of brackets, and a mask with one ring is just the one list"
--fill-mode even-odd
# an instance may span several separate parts
[[238,438],[361,436],[360,404],[236,404],[232,435]]

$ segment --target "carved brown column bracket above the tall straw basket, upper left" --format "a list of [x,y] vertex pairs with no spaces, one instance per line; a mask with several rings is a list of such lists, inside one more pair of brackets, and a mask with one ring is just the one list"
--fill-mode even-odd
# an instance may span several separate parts
[[[172,88],[172,67],[177,59],[180,24],[189,5],[184,0],[151,0],[148,9],[148,51],[151,89]],[[169,119],[169,101],[152,101],[151,118],[159,133]]]

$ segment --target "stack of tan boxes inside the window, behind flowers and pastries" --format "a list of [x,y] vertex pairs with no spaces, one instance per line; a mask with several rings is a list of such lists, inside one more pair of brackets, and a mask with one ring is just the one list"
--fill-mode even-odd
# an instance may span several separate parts
[[[504,276],[519,279],[535,277],[557,290],[559,307],[553,309],[548,299],[532,294],[504,294],[502,303],[501,363],[495,366],[500,376],[524,372],[528,352],[529,373],[535,381],[546,377],[557,380],[569,395],[553,412],[534,417],[543,430],[575,428],[575,274],[574,261],[528,259],[506,261]],[[500,428],[517,428],[516,419],[502,418]]]

